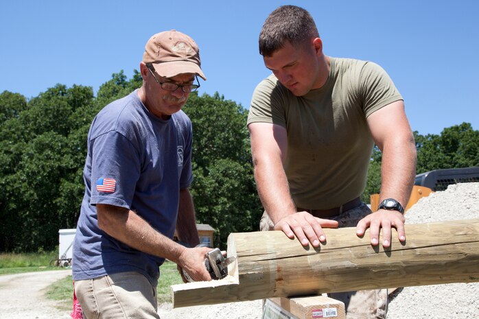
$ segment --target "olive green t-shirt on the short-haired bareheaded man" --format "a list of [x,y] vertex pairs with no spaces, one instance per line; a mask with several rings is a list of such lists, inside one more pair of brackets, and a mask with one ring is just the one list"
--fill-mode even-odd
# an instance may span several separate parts
[[288,132],[283,167],[303,209],[329,209],[361,195],[374,146],[366,117],[402,99],[379,65],[330,61],[325,85],[301,97],[270,75],[256,87],[248,115],[248,125],[274,123]]

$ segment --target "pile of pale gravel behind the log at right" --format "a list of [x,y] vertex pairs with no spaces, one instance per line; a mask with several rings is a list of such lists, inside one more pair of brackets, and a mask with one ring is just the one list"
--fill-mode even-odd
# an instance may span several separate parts
[[[406,224],[473,218],[479,218],[479,182],[449,185],[421,198],[407,211]],[[404,287],[389,303],[387,318],[479,318],[478,299],[479,283]]]

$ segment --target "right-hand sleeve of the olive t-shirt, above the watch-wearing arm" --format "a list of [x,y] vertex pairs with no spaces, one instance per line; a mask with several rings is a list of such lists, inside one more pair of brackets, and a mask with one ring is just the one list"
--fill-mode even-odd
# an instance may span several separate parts
[[361,69],[360,91],[366,117],[380,108],[403,99],[388,73],[374,62],[366,62]]

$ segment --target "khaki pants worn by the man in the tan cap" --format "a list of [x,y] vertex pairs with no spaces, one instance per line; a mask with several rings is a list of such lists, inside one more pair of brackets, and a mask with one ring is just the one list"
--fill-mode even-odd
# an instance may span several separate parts
[[156,287],[138,272],[75,281],[84,319],[160,319]]

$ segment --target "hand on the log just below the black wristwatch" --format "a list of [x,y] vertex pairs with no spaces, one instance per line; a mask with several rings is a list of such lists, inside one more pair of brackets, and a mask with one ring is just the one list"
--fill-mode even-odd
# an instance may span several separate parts
[[406,241],[406,232],[404,231],[404,215],[399,211],[388,211],[379,209],[372,214],[367,215],[358,222],[356,227],[356,235],[363,236],[367,228],[369,229],[369,237],[371,245],[379,244],[379,232],[382,228],[382,246],[387,248],[391,243],[391,228],[397,230],[399,241]]

